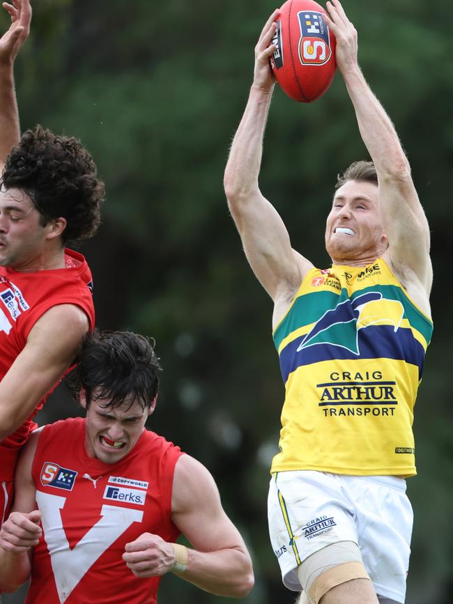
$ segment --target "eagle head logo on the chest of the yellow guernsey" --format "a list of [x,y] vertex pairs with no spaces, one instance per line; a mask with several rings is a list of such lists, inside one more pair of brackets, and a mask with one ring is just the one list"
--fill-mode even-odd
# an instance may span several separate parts
[[399,300],[386,300],[380,292],[370,291],[354,300],[339,302],[335,309],[326,311],[302,339],[296,352],[316,344],[330,344],[359,356],[360,330],[370,325],[392,325],[397,332],[403,317],[404,307]]

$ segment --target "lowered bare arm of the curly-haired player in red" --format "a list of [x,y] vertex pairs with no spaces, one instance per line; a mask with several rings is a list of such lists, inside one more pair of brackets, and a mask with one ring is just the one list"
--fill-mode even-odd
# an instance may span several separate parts
[[0,440],[31,415],[77,356],[88,331],[86,314],[74,304],[60,304],[33,325],[24,350],[0,382]]

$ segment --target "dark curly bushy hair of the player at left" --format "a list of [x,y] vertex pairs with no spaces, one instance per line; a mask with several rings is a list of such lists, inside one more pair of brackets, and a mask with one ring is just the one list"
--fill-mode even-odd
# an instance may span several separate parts
[[2,186],[22,189],[40,212],[41,226],[66,218],[63,243],[90,238],[100,223],[105,188],[82,143],[40,125],[26,130],[6,160]]

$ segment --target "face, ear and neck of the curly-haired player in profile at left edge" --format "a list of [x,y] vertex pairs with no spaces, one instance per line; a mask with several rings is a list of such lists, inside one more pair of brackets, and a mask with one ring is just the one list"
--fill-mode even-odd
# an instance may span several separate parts
[[20,189],[0,189],[0,265],[20,271],[64,268],[59,235],[64,218],[40,224],[40,213]]

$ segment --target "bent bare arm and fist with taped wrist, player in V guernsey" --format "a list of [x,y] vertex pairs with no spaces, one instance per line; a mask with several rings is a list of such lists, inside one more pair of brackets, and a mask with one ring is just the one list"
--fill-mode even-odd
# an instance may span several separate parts
[[[204,465],[183,455],[176,464],[172,518],[192,543],[187,568],[178,575],[210,594],[243,598],[254,584],[252,562],[238,530],[222,509],[213,477]],[[174,548],[144,534],[126,546],[123,559],[138,577],[174,570]]]

